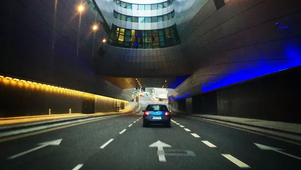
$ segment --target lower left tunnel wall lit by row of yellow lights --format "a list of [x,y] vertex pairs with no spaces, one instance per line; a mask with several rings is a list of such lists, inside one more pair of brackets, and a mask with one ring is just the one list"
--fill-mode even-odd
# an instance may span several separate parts
[[[46,85],[46,84],[45,84]],[[116,104],[127,101],[83,94],[60,87],[0,78],[0,117],[71,113],[115,112]]]

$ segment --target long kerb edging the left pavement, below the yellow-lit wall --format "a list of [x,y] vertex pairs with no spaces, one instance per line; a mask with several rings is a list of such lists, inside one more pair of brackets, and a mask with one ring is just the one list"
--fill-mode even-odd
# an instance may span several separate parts
[[45,121],[37,121],[37,122],[30,122],[30,123],[22,123],[22,124],[11,124],[11,125],[4,125],[3,127],[0,127],[0,132],[8,132],[12,130],[18,130],[18,129],[24,129],[24,128],[32,128],[42,125],[51,125],[56,123],[64,123],[69,121],[76,121],[76,120],[84,120],[84,119],[90,119],[90,118],[98,118],[98,117],[104,117],[104,116],[113,116],[113,115],[122,115],[122,114],[130,114],[132,112],[137,111],[136,106],[124,113],[111,113],[111,114],[104,114],[104,115],[95,115],[95,116],[82,116],[82,117],[75,117],[75,118],[63,118],[63,119],[54,119],[54,120],[45,120]]

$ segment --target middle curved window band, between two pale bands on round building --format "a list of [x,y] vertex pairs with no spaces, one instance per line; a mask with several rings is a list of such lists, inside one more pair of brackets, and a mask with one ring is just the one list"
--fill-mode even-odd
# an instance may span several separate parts
[[175,10],[169,14],[155,17],[135,17],[135,16],[127,16],[123,14],[119,14],[114,10],[113,14],[114,18],[121,21],[132,22],[132,23],[157,23],[163,22],[167,20],[171,20],[175,17]]

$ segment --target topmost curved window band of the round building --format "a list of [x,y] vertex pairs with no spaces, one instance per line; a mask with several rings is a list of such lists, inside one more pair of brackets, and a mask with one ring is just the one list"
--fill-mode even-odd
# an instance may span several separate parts
[[167,8],[171,5],[173,5],[175,0],[169,0],[163,3],[159,4],[131,4],[131,3],[125,3],[122,1],[114,0],[114,4],[121,8],[129,9],[129,10],[159,10],[163,8]]

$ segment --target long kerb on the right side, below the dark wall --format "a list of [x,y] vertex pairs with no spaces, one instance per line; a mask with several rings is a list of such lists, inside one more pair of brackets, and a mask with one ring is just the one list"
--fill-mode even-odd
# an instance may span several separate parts
[[251,124],[242,123],[242,122],[236,122],[236,121],[230,121],[230,120],[224,120],[224,119],[216,119],[216,118],[208,118],[208,117],[203,117],[203,116],[194,116],[194,115],[187,115],[187,116],[197,117],[197,118],[201,118],[201,119],[212,119],[212,120],[217,120],[217,121],[235,123],[235,124],[240,124],[240,125],[244,125],[244,126],[251,126],[251,127],[256,127],[256,128],[278,131],[281,133],[288,133],[288,134],[292,134],[292,135],[301,136],[301,133],[291,132],[291,131],[286,131],[286,130],[281,130],[281,129],[275,129],[275,128],[270,128],[270,127],[265,127],[265,126],[251,125]]

